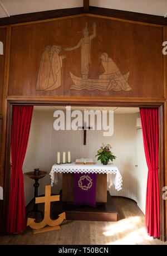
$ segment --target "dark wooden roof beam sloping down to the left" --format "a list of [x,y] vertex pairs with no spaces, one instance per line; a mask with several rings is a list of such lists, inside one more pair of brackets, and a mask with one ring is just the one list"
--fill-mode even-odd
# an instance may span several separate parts
[[13,15],[10,17],[0,18],[0,26],[30,22],[30,21],[47,20],[51,18],[58,18],[58,17],[71,16],[71,15],[80,15],[82,13],[84,13],[83,7],[25,13],[22,15]]

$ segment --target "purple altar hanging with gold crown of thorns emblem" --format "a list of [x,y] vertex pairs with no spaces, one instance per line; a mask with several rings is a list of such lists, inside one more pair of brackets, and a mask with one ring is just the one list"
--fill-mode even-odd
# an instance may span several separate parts
[[96,173],[75,173],[73,204],[96,207]]

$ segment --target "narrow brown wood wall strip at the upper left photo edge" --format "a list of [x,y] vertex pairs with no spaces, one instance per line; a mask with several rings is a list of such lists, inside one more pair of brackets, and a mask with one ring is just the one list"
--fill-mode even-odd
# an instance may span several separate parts
[[2,115],[3,108],[3,81],[4,81],[4,62],[6,51],[6,33],[7,28],[0,28],[0,41],[3,42],[3,55],[0,55],[0,115]]

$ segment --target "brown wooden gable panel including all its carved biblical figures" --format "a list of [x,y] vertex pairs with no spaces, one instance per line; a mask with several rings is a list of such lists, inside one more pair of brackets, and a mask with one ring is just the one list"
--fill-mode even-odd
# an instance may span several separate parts
[[8,95],[163,98],[162,35],[89,16],[13,26]]

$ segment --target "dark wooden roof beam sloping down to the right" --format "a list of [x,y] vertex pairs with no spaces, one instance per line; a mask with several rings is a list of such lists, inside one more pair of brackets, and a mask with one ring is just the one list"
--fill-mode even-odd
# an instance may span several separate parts
[[167,25],[167,18],[164,18],[163,16],[157,16],[157,15],[148,15],[145,13],[128,12],[128,11],[121,11],[116,9],[108,9],[108,8],[101,8],[101,7],[94,7],[94,6],[89,7],[89,13],[94,15],[121,18],[125,20],[153,23],[153,24],[164,25],[164,26]]

